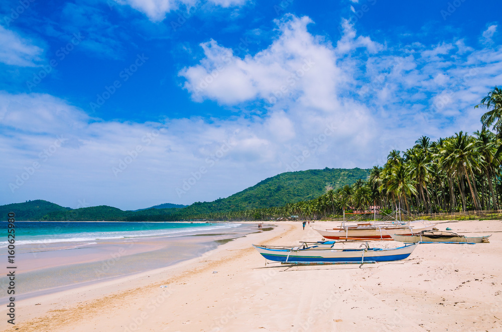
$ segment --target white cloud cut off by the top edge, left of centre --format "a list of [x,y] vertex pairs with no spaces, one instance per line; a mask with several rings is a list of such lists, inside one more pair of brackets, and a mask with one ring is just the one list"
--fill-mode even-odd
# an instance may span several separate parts
[[[246,0],[207,0],[204,3],[220,6],[223,8],[242,6]],[[160,22],[166,14],[178,9],[180,6],[191,8],[200,6],[195,0],[121,0],[119,4],[127,4],[135,10],[145,14],[151,21]]]

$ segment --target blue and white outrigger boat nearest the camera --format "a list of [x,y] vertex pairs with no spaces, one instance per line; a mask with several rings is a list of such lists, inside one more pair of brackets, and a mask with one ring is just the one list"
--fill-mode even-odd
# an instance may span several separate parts
[[[333,242],[333,241],[329,241]],[[376,262],[396,261],[408,258],[417,243],[405,244],[399,248],[369,248],[367,243],[364,248],[335,249],[323,247],[278,247],[253,245],[258,252],[268,260],[282,264],[365,264]]]

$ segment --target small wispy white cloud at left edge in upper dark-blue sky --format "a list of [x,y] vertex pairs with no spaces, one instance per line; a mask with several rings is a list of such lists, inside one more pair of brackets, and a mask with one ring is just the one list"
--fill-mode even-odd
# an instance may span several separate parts
[[35,67],[42,60],[43,49],[14,31],[0,25],[0,62],[20,67]]

